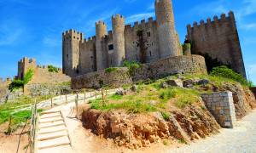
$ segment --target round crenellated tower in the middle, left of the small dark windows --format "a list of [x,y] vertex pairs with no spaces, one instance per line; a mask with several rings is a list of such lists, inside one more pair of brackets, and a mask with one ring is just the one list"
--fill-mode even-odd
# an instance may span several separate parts
[[112,17],[114,65],[122,65],[125,60],[125,18],[120,14]]

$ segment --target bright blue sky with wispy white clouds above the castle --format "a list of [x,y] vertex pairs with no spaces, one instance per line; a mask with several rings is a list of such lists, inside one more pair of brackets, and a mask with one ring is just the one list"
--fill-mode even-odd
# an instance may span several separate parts
[[[247,75],[256,82],[256,0],[173,0],[176,27],[183,42],[187,24],[233,10]],[[61,33],[68,29],[95,35],[96,20],[111,29],[111,15],[126,24],[154,16],[154,0],[0,0],[0,77],[15,76],[17,61],[36,58],[61,66]]]

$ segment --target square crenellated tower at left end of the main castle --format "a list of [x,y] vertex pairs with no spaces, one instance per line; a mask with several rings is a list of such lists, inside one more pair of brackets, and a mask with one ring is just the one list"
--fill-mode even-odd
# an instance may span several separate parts
[[78,31],[69,30],[62,33],[62,68],[67,76],[79,74],[79,45],[83,40],[83,33]]

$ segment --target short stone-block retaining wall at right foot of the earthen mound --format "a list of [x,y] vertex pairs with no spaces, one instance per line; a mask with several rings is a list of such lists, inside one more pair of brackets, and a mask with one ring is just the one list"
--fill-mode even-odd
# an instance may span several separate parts
[[231,92],[202,94],[201,97],[221,127],[236,126],[235,105]]

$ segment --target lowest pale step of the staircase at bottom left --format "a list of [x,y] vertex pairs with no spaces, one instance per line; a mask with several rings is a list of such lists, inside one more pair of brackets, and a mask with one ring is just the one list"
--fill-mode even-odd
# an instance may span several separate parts
[[45,141],[38,141],[38,150],[70,144],[67,136]]

